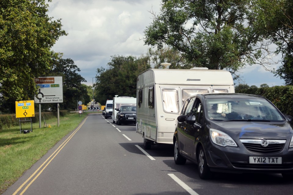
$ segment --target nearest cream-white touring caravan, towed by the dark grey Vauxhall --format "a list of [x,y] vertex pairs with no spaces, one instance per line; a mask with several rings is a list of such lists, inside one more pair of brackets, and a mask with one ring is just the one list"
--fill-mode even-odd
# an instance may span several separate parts
[[147,69],[137,77],[136,132],[145,149],[152,143],[173,144],[175,122],[182,105],[194,94],[234,93],[226,70]]

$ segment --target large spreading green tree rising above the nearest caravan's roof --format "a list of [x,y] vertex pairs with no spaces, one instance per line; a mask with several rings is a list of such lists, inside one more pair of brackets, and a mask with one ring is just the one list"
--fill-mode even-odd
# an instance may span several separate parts
[[250,6],[249,0],[163,0],[160,14],[152,13],[153,22],[144,30],[145,44],[167,44],[194,67],[234,74],[246,64],[264,63],[266,43],[251,27]]

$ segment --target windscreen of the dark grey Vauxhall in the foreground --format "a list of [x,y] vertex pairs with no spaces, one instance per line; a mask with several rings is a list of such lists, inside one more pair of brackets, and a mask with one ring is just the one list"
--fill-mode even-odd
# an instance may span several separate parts
[[266,99],[261,98],[208,98],[209,119],[216,121],[248,120],[282,122],[284,117]]

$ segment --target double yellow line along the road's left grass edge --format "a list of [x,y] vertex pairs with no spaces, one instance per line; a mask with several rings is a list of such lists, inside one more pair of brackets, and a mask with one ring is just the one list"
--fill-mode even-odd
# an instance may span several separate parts
[[[62,150],[62,148],[69,142],[69,140],[71,140],[71,138],[74,136],[74,134],[81,128],[81,126],[85,123],[87,118],[88,117],[86,117],[84,119],[84,121],[78,126],[78,128],[53,152],[53,154],[51,154],[51,156],[49,156],[49,158],[47,158],[47,160],[45,162],[43,162],[43,164],[23,184],[21,184],[21,186],[19,186],[19,188],[13,193],[13,195],[16,195],[24,187],[24,185],[34,177],[34,179],[32,179],[31,182],[27,184],[27,186],[24,188],[24,190],[22,190],[20,195],[22,195],[27,190],[27,188],[29,186],[31,186],[31,184],[38,178],[38,176],[41,175],[41,173],[50,164],[50,162],[57,156],[57,154]],[[42,168],[42,170],[40,171],[41,168]]]

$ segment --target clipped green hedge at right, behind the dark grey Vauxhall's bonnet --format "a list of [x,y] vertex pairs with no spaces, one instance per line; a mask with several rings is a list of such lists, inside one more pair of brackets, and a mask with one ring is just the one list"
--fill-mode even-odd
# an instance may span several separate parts
[[271,101],[285,115],[293,116],[293,86],[275,86],[236,90],[236,93],[261,95]]

